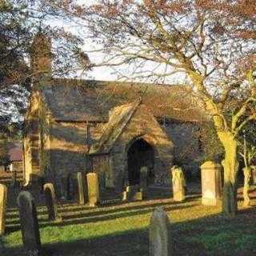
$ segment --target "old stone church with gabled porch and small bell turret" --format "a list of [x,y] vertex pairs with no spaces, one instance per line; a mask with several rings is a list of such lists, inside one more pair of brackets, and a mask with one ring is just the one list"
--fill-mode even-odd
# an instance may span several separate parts
[[178,158],[198,157],[202,111],[187,88],[51,78],[47,52],[33,56],[34,70],[40,59],[48,75],[34,82],[26,112],[26,184],[44,178],[59,190],[78,171],[93,171],[121,191],[147,166],[149,184],[167,185]]

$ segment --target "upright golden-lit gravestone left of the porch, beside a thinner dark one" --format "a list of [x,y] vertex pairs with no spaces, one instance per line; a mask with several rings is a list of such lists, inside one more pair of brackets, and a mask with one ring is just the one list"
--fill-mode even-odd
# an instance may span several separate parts
[[96,206],[99,202],[98,174],[86,174],[89,206]]

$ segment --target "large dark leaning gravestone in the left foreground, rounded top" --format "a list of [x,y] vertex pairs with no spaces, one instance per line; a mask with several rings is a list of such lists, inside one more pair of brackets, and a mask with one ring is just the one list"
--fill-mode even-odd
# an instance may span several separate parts
[[22,191],[17,198],[22,230],[23,246],[27,255],[39,256],[42,253],[38,229],[38,214],[34,198],[28,191]]

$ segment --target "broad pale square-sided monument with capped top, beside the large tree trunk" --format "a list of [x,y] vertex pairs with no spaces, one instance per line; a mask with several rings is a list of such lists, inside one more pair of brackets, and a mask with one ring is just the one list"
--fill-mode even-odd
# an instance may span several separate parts
[[222,166],[204,162],[201,166],[202,204],[216,206],[222,195]]

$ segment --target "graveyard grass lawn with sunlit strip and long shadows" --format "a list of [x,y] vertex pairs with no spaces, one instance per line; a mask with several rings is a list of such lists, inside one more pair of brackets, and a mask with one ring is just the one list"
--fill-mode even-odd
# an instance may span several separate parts
[[[235,218],[224,218],[221,208],[202,206],[199,196],[186,202],[154,199],[91,209],[77,204],[59,205],[61,223],[48,222],[46,207],[38,207],[46,256],[148,255],[148,226],[152,210],[163,206],[170,217],[174,255],[255,255],[256,199]],[[18,210],[9,209],[7,234],[1,239],[1,256],[22,256]]]

